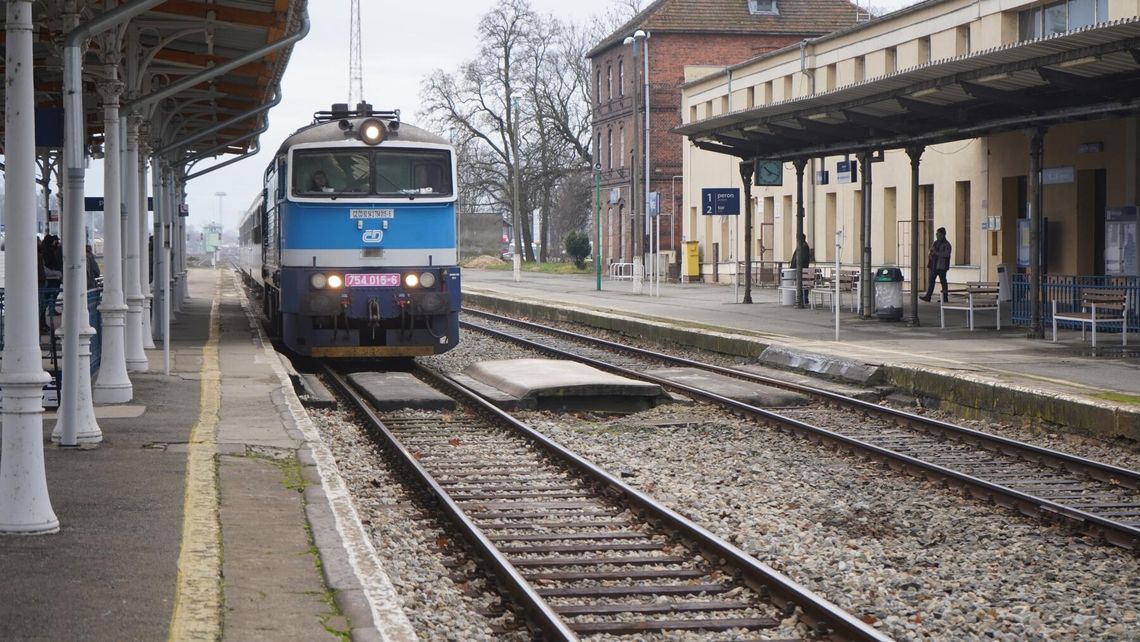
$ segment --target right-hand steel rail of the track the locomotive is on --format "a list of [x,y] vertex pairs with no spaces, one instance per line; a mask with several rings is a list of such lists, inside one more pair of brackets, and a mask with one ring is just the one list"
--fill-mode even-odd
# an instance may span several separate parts
[[689,518],[685,518],[668,506],[665,506],[641,490],[637,490],[636,488],[613,477],[605,470],[593,464],[588,460],[567,449],[526,423],[520,422],[511,414],[484,399],[474,390],[471,390],[451,377],[423,364],[417,363],[416,367],[421,372],[431,376],[433,380],[447,385],[457,396],[462,397],[465,403],[478,406],[483,412],[494,415],[511,425],[514,430],[526,434],[536,444],[540,445],[549,455],[554,456],[562,463],[575,468],[595,482],[616,490],[624,496],[627,502],[652,515],[666,528],[669,528],[683,537],[697,543],[697,545],[705,551],[706,554],[714,554],[726,560],[731,566],[738,568],[744,575],[744,577],[749,580],[748,584],[750,584],[755,590],[762,593],[767,592],[768,598],[772,599],[776,606],[789,611],[792,607],[799,607],[804,613],[804,619],[815,627],[817,633],[831,635],[837,640],[890,640],[876,631],[873,627],[855,618],[846,610],[816,595],[811,590],[744,553],[740,548],[736,548],[717,535],[714,535],[703,527],[697,525]]

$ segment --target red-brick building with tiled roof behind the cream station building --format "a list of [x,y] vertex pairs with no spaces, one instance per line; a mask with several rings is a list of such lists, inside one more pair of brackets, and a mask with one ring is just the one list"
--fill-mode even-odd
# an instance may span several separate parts
[[[670,130],[682,122],[685,67],[738,64],[850,26],[861,16],[865,14],[847,0],[657,0],[594,47],[587,58],[594,82],[603,265],[634,260],[630,230],[645,229],[646,187],[660,198],[662,260],[679,260],[684,139]],[[635,137],[645,129],[646,84],[648,155],[644,135]],[[641,253],[648,253],[648,235],[638,241]]]

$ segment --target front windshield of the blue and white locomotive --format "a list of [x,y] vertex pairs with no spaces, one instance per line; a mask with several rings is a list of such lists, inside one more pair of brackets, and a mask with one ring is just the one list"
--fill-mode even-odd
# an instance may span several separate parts
[[450,196],[451,160],[442,149],[304,149],[293,156],[298,196]]

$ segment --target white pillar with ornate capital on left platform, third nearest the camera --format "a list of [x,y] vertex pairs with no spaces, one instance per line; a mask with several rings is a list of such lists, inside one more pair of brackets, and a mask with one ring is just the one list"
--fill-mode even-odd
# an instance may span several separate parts
[[92,396],[98,404],[124,404],[135,396],[131,380],[127,375],[127,352],[124,334],[127,304],[123,302],[123,243],[120,209],[120,156],[119,156],[119,96],[123,83],[117,80],[116,56],[108,57],[106,79],[97,83],[103,97],[104,149],[103,162],[103,252],[105,266],[103,275],[103,348],[99,359],[99,375],[95,381]]

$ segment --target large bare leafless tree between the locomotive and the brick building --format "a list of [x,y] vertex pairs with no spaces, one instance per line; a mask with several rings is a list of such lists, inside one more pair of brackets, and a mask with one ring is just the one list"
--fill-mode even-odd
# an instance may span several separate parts
[[540,18],[527,0],[499,0],[479,23],[478,56],[423,82],[424,116],[459,146],[461,201],[481,210],[518,208],[515,249],[528,261],[535,260],[536,210],[544,260],[575,225],[588,226],[588,188],[581,189],[593,157],[586,52],[641,5],[617,2],[586,27]]

